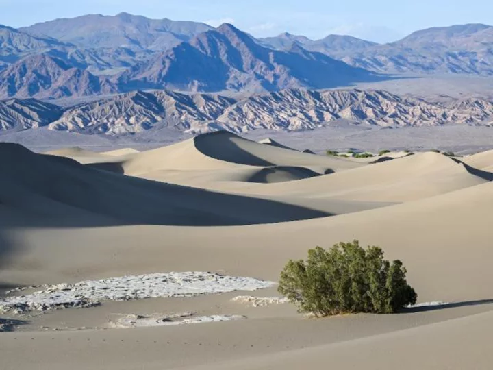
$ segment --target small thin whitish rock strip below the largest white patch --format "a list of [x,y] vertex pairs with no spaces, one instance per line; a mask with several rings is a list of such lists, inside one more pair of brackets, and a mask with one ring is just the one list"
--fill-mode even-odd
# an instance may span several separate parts
[[194,316],[187,312],[184,314],[153,314],[150,316],[142,316],[129,314],[117,319],[112,323],[113,328],[143,328],[149,326],[169,326],[169,325],[188,325],[194,323],[215,323],[219,321],[242,320],[247,317],[240,315],[220,315],[213,314],[210,316]]

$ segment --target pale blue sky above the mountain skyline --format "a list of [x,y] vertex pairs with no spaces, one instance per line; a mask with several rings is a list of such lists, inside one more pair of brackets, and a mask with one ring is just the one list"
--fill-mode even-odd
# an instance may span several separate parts
[[377,42],[427,27],[493,24],[493,1],[487,0],[0,0],[0,24],[12,27],[119,12],[212,25],[229,22],[258,37],[287,31],[310,38],[349,34]]

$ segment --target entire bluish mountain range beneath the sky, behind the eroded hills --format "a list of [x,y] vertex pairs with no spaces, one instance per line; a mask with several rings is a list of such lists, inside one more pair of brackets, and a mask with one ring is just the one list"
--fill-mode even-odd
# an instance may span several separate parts
[[133,90],[262,93],[322,89],[388,73],[493,75],[493,27],[414,32],[385,45],[351,36],[256,39],[233,25],[121,13],[0,26],[0,99],[58,99]]

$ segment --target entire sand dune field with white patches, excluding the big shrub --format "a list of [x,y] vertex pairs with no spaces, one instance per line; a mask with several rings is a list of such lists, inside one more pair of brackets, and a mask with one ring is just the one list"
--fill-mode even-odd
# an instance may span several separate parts
[[[1,369],[493,366],[493,151],[341,158],[216,132],[0,153]],[[288,259],[353,239],[403,260],[420,304],[312,319],[279,297]]]

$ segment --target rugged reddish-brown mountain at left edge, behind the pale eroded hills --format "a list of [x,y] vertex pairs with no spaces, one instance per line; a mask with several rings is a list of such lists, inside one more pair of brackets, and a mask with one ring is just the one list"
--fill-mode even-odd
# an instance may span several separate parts
[[28,56],[0,71],[0,98],[81,97],[116,93],[105,77],[77,69],[45,54]]

